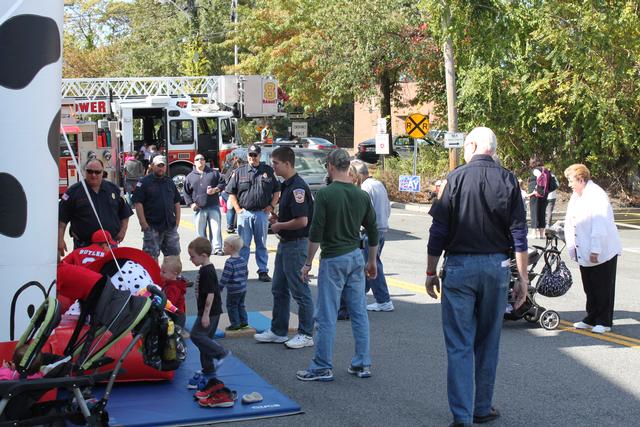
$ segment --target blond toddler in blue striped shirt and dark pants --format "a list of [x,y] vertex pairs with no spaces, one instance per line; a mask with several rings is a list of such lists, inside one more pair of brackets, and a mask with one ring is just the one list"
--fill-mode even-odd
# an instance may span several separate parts
[[240,236],[229,236],[224,240],[224,254],[230,255],[224,263],[220,279],[220,292],[227,288],[227,313],[229,322],[227,331],[237,331],[249,327],[244,297],[247,293],[247,262],[240,256],[244,242]]

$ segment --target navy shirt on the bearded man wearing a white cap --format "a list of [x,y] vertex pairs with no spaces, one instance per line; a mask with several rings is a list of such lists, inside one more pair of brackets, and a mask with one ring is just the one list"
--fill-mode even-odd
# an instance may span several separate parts
[[151,228],[165,231],[176,227],[176,203],[180,193],[173,180],[166,175],[149,174],[136,184],[133,203],[142,203],[144,217]]

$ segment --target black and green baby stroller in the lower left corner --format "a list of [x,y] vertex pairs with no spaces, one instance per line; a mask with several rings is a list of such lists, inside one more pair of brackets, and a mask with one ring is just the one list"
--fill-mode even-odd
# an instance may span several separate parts
[[[81,314],[64,354],[43,354],[43,363],[51,363],[47,366],[51,369],[43,378],[26,380],[27,370],[60,322],[59,302],[48,296],[18,342],[19,346],[29,346],[16,366],[21,379],[0,382],[0,426],[65,425],[67,421],[108,426],[106,405],[125,357],[139,340],[166,343],[171,338],[156,335],[157,325],[166,318],[166,297],[155,288],[149,291],[153,298],[133,296],[115,289],[103,276],[86,299],[80,301]],[[100,367],[115,362],[105,354],[129,333],[134,338],[114,368],[99,372]],[[166,350],[162,346],[148,347],[143,346],[143,352]],[[155,354],[149,354],[148,358],[157,359]],[[146,363],[147,357],[144,360]],[[106,382],[104,393],[95,399],[92,388],[100,382]],[[57,392],[57,396],[41,401],[51,391]]]

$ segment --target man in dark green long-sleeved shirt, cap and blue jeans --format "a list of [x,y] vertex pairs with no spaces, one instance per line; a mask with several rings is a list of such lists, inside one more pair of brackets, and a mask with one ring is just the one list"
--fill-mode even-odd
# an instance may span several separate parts
[[360,227],[365,228],[369,242],[378,242],[378,228],[369,195],[351,182],[349,164],[345,150],[329,153],[327,169],[332,183],[316,194],[314,202],[307,259],[301,273],[303,280],[308,281],[311,262],[321,248],[316,304],[318,330],[315,356],[308,369],[296,374],[301,381],[333,380],[333,339],[343,288],[355,339],[355,355],[347,370],[359,378],[371,376],[364,284],[365,273],[369,278],[376,277],[378,246],[369,246],[365,266],[360,250]]

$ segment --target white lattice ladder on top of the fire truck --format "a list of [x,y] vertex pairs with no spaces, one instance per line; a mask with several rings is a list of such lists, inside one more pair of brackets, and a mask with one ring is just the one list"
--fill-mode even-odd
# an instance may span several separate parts
[[171,96],[217,102],[218,82],[218,76],[62,79],[62,98],[96,101],[110,96],[114,100]]

